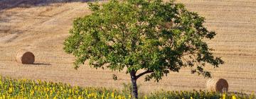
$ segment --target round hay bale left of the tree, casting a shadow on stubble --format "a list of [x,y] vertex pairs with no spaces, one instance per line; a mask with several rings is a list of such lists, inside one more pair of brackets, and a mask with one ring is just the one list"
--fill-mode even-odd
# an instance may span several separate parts
[[21,50],[16,55],[16,62],[21,64],[33,64],[33,62],[35,62],[35,55],[32,52]]

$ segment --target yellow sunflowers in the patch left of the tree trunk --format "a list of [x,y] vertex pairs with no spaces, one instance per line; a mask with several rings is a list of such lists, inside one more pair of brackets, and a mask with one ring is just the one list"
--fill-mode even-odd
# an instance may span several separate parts
[[[28,79],[1,78],[0,99],[9,98],[119,98],[126,96],[117,91],[106,88],[82,88],[70,86],[66,83],[53,83],[46,81],[31,81]],[[128,98],[128,96],[127,96]]]

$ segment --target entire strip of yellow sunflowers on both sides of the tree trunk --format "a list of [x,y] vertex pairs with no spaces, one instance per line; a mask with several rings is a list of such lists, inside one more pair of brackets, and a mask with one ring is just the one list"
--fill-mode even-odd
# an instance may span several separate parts
[[[114,98],[129,99],[132,95],[130,91],[117,91],[106,88],[82,88],[79,86],[70,86],[66,83],[53,83],[46,81],[31,81],[28,79],[12,79],[0,76],[0,99],[9,98]],[[207,91],[159,91],[140,98],[176,98],[176,99],[201,99],[201,98],[223,98],[223,99],[255,99],[255,95],[242,93],[215,93]]]

